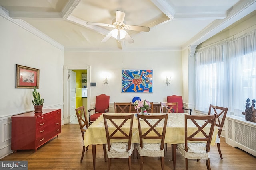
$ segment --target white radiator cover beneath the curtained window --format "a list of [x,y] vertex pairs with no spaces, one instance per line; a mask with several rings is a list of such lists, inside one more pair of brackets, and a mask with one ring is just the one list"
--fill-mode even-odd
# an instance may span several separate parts
[[242,117],[226,117],[226,143],[256,156],[256,123]]

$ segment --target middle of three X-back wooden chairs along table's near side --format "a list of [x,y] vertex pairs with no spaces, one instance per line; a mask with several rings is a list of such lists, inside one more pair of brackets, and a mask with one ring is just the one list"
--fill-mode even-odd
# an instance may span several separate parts
[[[164,139],[166,133],[167,118],[168,114],[137,115],[140,143],[136,144],[136,149],[140,154],[140,170],[143,170],[144,157],[160,157],[161,168],[164,170]],[[164,121],[163,124],[162,120]],[[148,127],[143,127],[142,129],[142,122],[144,125],[148,125]],[[158,129],[156,126],[160,124],[160,122],[162,128]],[[148,141],[144,142],[144,139],[148,141],[161,140],[161,142],[147,143]]]

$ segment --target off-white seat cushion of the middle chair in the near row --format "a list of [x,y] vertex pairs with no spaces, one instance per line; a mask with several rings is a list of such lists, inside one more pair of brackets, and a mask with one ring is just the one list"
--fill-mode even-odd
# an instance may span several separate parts
[[160,143],[143,143],[143,149],[140,147],[140,143],[136,143],[136,149],[140,156],[147,157],[164,157],[164,149],[160,150]]

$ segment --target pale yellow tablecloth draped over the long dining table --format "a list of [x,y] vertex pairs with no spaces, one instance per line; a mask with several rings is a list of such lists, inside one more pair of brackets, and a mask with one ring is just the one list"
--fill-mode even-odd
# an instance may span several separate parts
[[[107,114],[128,115],[132,113],[107,113]],[[151,113],[151,114],[153,115],[153,114],[161,114],[161,113]],[[166,136],[164,141],[165,143],[178,144],[178,143],[185,142],[184,114],[186,113],[169,113],[168,114]],[[144,121],[141,121],[142,131],[143,131],[144,123],[145,123]],[[202,121],[202,124],[204,123],[205,122]],[[162,128],[161,125],[163,125],[163,122],[162,124],[160,122],[157,128]],[[130,122],[126,122],[126,124],[123,127],[125,127],[123,130],[126,133],[128,133],[130,128]],[[210,126],[206,126],[205,128],[210,129]],[[197,129],[196,126],[191,121],[188,121],[188,134],[191,134],[189,131],[190,130],[193,131],[193,129]],[[217,133],[218,133],[218,127],[215,127],[211,145],[214,145]],[[138,120],[134,116],[133,127],[132,127],[132,143],[139,143],[139,142],[140,141],[139,141],[139,131],[138,131]],[[149,142],[149,141],[144,141],[144,142]],[[104,144],[104,143],[107,143],[106,132],[104,127],[103,115],[100,115],[100,117],[94,123],[92,123],[92,125],[90,125],[90,127],[86,130],[84,135],[84,145],[88,146],[91,144]]]

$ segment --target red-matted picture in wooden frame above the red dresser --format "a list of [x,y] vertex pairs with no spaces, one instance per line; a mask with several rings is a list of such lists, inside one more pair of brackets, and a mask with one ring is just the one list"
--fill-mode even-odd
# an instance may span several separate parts
[[39,69],[16,64],[16,88],[39,88]]

